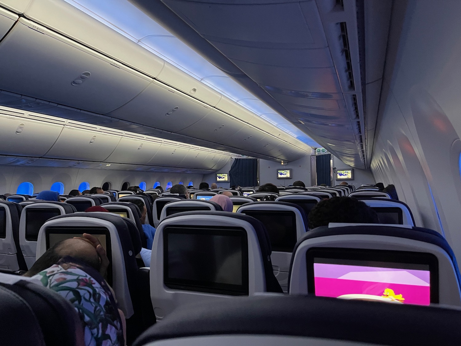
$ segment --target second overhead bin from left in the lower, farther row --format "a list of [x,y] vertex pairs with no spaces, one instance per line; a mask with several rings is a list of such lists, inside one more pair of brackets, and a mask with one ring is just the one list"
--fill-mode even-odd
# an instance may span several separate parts
[[[114,134],[110,134],[110,132]],[[120,142],[122,131],[100,129],[71,121],[63,128],[58,140],[45,157],[84,161],[104,161]]]

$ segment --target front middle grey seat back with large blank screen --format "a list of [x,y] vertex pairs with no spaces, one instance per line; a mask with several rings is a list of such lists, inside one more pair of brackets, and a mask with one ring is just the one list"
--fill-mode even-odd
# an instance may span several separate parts
[[158,320],[190,302],[282,292],[272,273],[266,230],[246,215],[168,216],[157,228],[152,251],[151,298]]

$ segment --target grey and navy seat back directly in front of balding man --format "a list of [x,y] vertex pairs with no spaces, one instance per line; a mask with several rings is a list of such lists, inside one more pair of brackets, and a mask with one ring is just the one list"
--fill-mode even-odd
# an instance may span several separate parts
[[[139,231],[133,221],[111,213],[74,213],[53,217],[40,228],[36,257],[41,257],[55,243],[83,233],[100,239],[109,258],[109,285],[127,318],[136,309],[136,255],[141,251]],[[135,302],[134,302],[135,301]]]

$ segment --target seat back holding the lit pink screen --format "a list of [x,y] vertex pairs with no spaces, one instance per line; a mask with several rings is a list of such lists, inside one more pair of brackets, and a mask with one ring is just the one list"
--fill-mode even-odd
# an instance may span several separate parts
[[293,253],[290,294],[461,305],[447,241],[406,225],[331,223],[307,232]]

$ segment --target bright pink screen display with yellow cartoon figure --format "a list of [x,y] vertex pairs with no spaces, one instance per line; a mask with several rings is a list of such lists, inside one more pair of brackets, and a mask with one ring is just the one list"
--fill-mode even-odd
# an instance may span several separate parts
[[314,263],[315,295],[429,305],[428,270]]

